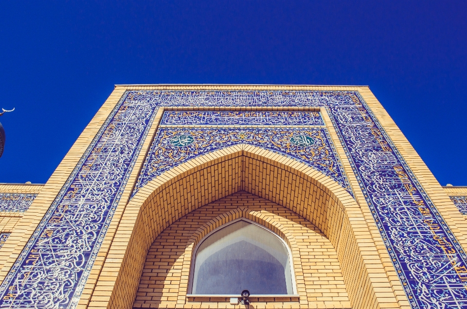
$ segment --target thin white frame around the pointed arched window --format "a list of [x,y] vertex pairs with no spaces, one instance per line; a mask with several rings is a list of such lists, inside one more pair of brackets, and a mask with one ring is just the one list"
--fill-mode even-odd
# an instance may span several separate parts
[[223,229],[225,227],[227,227],[228,225],[231,225],[237,221],[245,221],[245,222],[248,222],[250,224],[253,224],[267,232],[269,232],[270,234],[272,234],[272,236],[275,236],[277,237],[280,241],[282,241],[282,243],[284,244],[284,246],[286,247],[287,249],[287,254],[288,254],[288,259],[289,259],[289,265],[290,265],[290,277],[291,277],[291,281],[292,281],[292,294],[251,294],[250,297],[298,297],[298,293],[297,293],[297,286],[296,286],[296,280],[295,280],[295,271],[294,271],[294,263],[293,263],[293,258],[292,258],[292,251],[290,250],[289,246],[287,245],[287,242],[279,235],[277,235],[276,233],[274,233],[273,231],[269,230],[266,226],[264,225],[261,225],[257,222],[254,222],[254,221],[251,221],[247,218],[237,218],[237,219],[234,219],[232,221],[229,221],[225,224],[222,224],[221,226],[215,228],[214,230],[212,230],[211,232],[209,232],[207,235],[205,235],[203,238],[201,238],[201,240],[198,241],[197,245],[195,246],[195,249],[193,249],[193,253],[191,254],[192,258],[191,258],[191,261],[190,261],[190,275],[188,276],[188,288],[187,288],[187,294],[186,296],[187,297],[238,297],[239,294],[192,294],[192,290],[193,290],[193,277],[195,275],[195,263],[196,263],[196,252],[198,251],[198,248],[199,246],[201,245],[201,243],[203,243],[203,241],[205,239],[207,239],[209,236],[211,236],[212,234],[216,233],[217,231],[219,231],[220,229]]

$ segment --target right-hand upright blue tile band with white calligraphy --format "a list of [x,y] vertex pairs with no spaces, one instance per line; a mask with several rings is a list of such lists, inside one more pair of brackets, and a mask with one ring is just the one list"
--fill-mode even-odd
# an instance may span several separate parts
[[360,100],[328,109],[412,308],[465,308],[465,252]]

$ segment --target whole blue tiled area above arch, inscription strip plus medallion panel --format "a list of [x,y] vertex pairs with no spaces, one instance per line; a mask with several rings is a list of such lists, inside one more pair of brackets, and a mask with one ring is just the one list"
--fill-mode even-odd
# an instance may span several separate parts
[[259,146],[305,163],[352,195],[319,111],[164,111],[161,127],[132,196],[170,168],[238,144]]

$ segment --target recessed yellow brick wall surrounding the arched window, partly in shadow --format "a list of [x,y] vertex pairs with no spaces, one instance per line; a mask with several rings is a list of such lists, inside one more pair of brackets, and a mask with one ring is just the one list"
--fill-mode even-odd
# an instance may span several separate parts
[[294,256],[294,272],[300,295],[292,299],[251,298],[251,308],[293,305],[350,308],[339,259],[329,239],[305,218],[245,191],[192,211],[172,223],[156,238],[146,256],[134,307],[142,308],[145,304],[151,308],[175,308],[177,301],[182,300],[184,308],[203,308],[207,305],[209,308],[239,308],[240,305],[230,305],[228,299],[197,297],[187,301],[186,276],[190,271],[193,248],[202,236],[240,217],[269,227],[287,241]]

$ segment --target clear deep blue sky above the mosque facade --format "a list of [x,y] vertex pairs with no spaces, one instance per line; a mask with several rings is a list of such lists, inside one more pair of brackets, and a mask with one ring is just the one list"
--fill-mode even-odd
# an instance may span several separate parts
[[0,182],[48,180],[114,84],[369,85],[467,185],[466,1],[1,1]]

